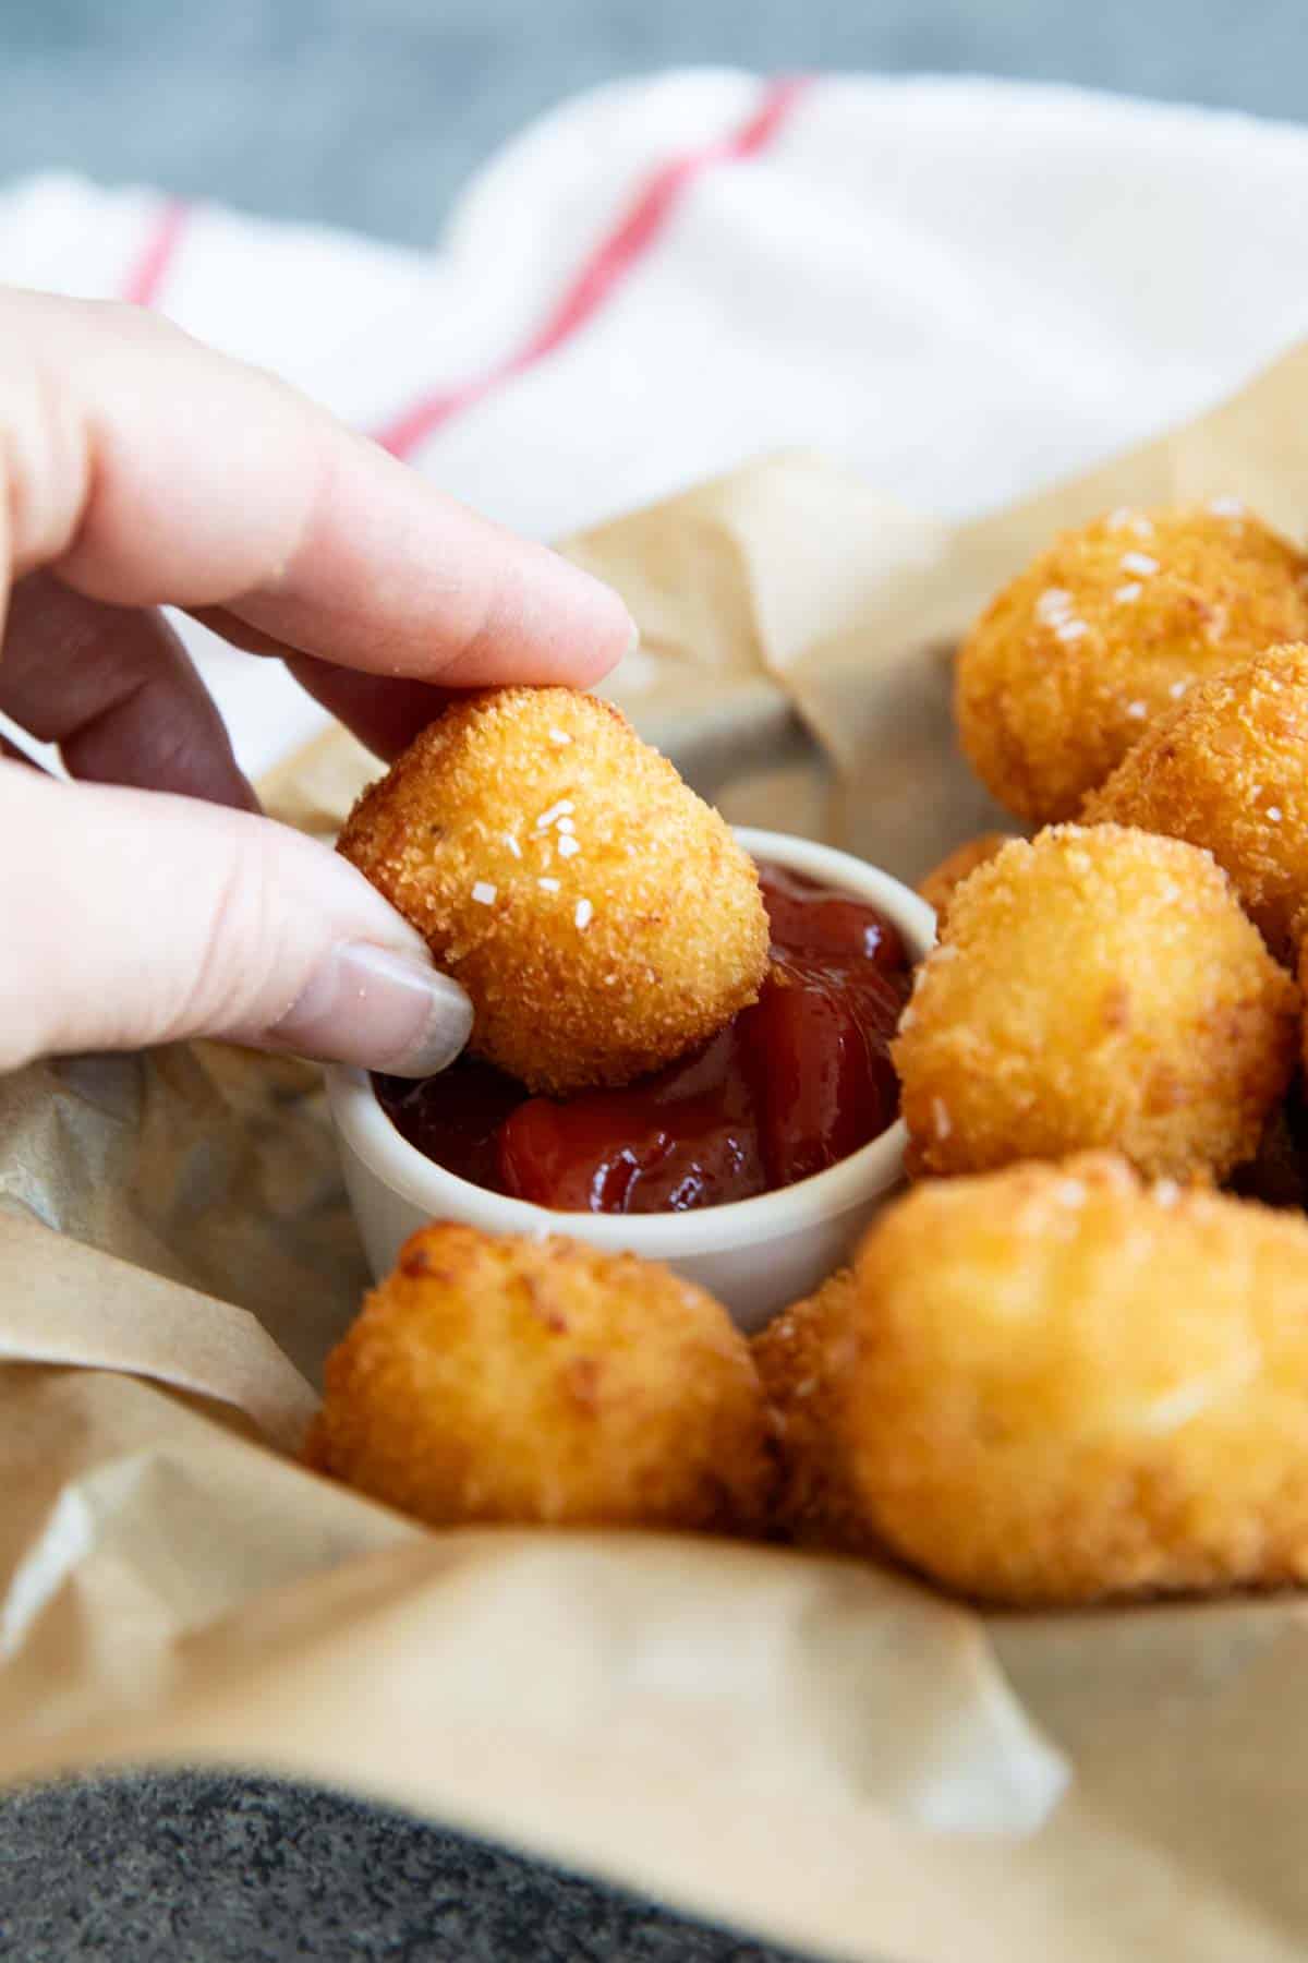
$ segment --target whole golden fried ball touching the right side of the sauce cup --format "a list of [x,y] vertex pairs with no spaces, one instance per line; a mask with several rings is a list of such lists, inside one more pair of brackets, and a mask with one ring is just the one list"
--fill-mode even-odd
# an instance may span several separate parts
[[900,1019],[910,1168],[1110,1146],[1220,1180],[1284,1093],[1296,1017],[1208,852],[1120,824],[1016,840],[957,889]]

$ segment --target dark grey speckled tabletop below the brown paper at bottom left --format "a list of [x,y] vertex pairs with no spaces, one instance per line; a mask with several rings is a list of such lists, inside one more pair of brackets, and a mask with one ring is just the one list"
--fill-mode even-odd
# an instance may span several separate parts
[[400,1814],[218,1777],[53,1786],[0,1806],[0,1955],[786,1963]]

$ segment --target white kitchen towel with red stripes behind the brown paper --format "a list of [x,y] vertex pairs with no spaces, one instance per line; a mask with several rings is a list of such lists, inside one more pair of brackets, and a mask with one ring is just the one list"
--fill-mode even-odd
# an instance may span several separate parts
[[[0,192],[0,279],[157,306],[537,536],[796,446],[959,516],[1304,334],[1306,208],[1308,130],[690,71],[565,102],[429,253],[47,175]],[[318,726],[190,640],[247,768]]]

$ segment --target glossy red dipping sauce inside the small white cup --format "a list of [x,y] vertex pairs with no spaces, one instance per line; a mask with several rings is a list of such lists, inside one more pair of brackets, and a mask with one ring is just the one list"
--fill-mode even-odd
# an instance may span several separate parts
[[561,1101],[471,1056],[418,1084],[375,1076],[390,1123],[459,1178],[557,1213],[718,1207],[849,1158],[898,1115],[908,954],[861,899],[780,866],[759,883],[773,966],[704,1048]]

